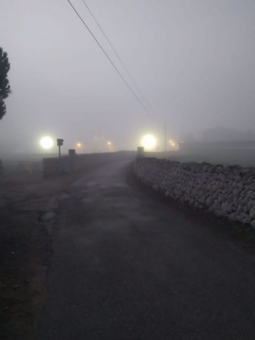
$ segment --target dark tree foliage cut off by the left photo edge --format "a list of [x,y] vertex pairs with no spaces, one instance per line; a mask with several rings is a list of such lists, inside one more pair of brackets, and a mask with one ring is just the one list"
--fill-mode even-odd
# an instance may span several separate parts
[[3,52],[0,47],[0,119],[4,116],[6,112],[6,106],[4,104],[4,99],[11,93],[11,88],[9,85],[9,80],[7,78],[7,73],[10,69],[10,63],[6,52]]

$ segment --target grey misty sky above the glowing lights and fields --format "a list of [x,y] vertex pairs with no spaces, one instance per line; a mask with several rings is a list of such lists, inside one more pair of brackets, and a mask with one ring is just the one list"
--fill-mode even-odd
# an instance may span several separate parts
[[[135,149],[146,132],[225,126],[255,131],[254,0],[87,0],[150,102],[150,117],[66,0],[0,0],[0,46],[12,94],[0,121],[0,152],[42,151],[41,136],[95,136]],[[125,73],[82,0],[72,0]],[[137,92],[137,95],[139,93]],[[141,98],[142,99],[142,98]]]

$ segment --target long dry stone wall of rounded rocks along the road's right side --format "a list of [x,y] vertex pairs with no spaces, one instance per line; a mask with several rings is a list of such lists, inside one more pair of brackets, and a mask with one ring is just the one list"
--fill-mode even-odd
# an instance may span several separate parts
[[167,197],[255,228],[255,168],[137,158],[137,178]]

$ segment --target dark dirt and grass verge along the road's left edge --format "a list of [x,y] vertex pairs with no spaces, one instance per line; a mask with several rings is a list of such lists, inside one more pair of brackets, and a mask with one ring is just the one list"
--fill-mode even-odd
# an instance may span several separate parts
[[33,333],[46,294],[58,201],[80,176],[15,174],[0,180],[1,339],[29,339]]

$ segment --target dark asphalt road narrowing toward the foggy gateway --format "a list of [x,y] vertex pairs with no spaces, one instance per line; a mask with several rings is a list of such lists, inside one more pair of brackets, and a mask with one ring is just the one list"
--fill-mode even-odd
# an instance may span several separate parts
[[254,256],[130,187],[126,168],[62,201],[36,339],[254,340]]

